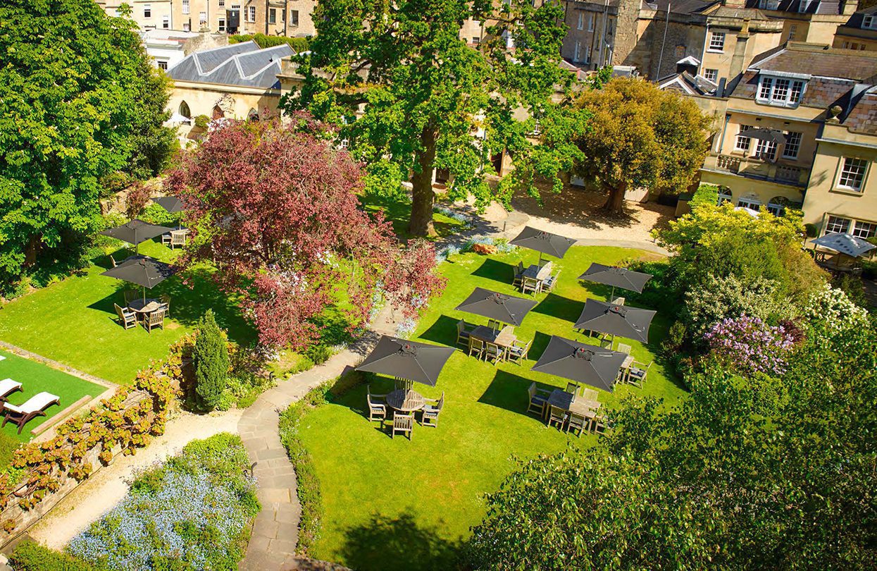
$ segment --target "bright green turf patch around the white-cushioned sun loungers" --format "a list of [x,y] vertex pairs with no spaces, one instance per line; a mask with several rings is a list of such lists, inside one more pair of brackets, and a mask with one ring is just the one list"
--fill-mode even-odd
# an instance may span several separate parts
[[12,379],[22,384],[21,390],[9,396],[11,404],[22,404],[39,392],[46,391],[61,398],[60,405],[46,409],[45,417],[32,419],[18,434],[18,426],[7,424],[0,430],[0,467],[5,466],[9,458],[4,454],[8,445],[14,449],[18,442],[27,442],[32,438],[31,431],[46,422],[54,415],[78,401],[82,396],[98,396],[105,387],[93,382],[83,381],[79,377],[68,375],[56,368],[51,368],[35,360],[24,359],[7,351],[0,350],[0,379]]

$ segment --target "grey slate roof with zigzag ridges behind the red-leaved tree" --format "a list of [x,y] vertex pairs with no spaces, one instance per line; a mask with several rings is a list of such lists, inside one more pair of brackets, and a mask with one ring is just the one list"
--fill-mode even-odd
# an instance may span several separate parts
[[280,86],[281,61],[292,54],[289,44],[260,49],[253,41],[241,42],[189,54],[168,75],[182,82],[271,89]]

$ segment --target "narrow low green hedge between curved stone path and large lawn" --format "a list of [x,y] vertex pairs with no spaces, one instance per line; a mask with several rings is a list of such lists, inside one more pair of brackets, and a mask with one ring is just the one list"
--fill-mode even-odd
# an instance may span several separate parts
[[302,520],[298,526],[300,553],[306,554],[317,542],[323,524],[323,496],[313,459],[298,439],[298,427],[311,409],[327,403],[332,396],[339,396],[365,382],[360,373],[343,375],[310,389],[308,394],[289,405],[280,415],[280,439],[296,470],[296,492],[302,505]]

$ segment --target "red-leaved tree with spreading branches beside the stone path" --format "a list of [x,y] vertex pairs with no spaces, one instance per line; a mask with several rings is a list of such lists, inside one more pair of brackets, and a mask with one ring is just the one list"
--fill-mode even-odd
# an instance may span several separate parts
[[310,117],[230,121],[185,153],[166,182],[192,230],[184,265],[211,260],[267,346],[300,349],[346,287],[351,324],[382,288],[406,314],[444,287],[430,244],[399,246],[381,214],[360,209],[360,165]]

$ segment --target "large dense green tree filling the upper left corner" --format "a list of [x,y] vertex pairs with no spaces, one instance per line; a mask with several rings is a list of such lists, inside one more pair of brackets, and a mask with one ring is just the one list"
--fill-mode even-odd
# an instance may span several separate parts
[[0,285],[95,228],[104,175],[157,172],[167,99],[130,20],[82,0],[0,4]]

